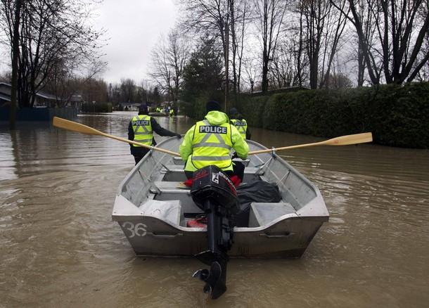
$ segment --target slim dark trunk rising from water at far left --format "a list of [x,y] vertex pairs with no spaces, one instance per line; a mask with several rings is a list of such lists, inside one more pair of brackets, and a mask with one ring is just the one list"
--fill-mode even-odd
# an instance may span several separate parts
[[18,94],[18,53],[20,51],[20,15],[23,0],[15,1],[15,20],[13,21],[12,38],[12,84],[11,84],[11,113],[9,114],[9,128],[16,127],[16,106]]

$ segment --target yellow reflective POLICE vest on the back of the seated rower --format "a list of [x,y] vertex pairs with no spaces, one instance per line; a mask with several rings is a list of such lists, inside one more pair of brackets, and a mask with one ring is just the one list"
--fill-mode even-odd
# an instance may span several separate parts
[[197,122],[192,140],[191,162],[196,169],[216,165],[224,169],[232,166],[231,124],[212,125],[207,120]]

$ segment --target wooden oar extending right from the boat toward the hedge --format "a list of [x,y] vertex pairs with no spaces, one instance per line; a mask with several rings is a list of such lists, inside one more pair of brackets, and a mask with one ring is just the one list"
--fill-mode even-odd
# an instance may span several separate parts
[[373,141],[373,135],[371,133],[354,134],[347,136],[340,136],[326,141],[320,141],[315,143],[298,144],[297,146],[283,146],[283,148],[274,148],[267,150],[254,150],[249,152],[248,155],[269,153],[277,150],[290,150],[291,148],[306,148],[307,146],[347,146],[349,144],[366,143]]

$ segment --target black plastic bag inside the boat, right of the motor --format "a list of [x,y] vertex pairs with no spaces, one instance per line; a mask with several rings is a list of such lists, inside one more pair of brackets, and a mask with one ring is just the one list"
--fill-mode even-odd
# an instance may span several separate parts
[[248,226],[250,203],[277,203],[281,201],[277,185],[266,181],[253,181],[238,186],[237,196],[240,210],[235,215],[236,226]]

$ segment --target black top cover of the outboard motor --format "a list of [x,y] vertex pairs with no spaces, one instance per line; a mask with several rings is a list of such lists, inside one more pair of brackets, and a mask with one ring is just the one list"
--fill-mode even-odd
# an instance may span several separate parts
[[193,173],[191,196],[193,202],[202,210],[205,210],[206,200],[224,208],[226,216],[236,214],[239,210],[236,187],[231,179],[214,165]]

